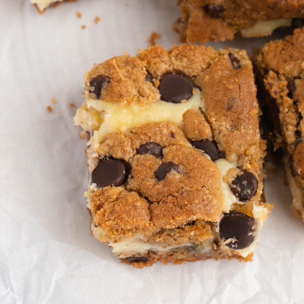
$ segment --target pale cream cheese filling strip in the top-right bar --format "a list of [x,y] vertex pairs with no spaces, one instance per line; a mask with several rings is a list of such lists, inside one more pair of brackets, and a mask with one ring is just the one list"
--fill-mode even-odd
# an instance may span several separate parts
[[241,29],[241,35],[245,38],[269,36],[272,32],[282,26],[291,26],[292,19],[274,19],[268,21],[257,21],[247,29]]

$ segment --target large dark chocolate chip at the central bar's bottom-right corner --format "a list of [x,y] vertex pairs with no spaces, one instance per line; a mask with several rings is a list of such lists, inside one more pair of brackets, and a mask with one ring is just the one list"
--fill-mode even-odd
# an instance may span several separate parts
[[221,221],[219,222],[219,237],[225,241],[232,238],[235,241],[231,241],[226,244],[231,249],[243,249],[248,247],[253,242],[253,229],[254,218],[247,216],[242,212],[231,211],[225,213]]

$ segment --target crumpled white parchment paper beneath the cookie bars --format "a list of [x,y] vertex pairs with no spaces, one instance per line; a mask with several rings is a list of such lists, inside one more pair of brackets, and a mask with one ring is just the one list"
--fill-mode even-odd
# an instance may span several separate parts
[[[44,15],[27,0],[1,0],[0,16],[0,303],[304,302],[304,223],[289,208],[283,174],[266,182],[275,209],[251,263],[138,270],[90,237],[85,141],[69,103],[81,105],[93,63],[136,54],[152,30],[159,44],[178,43],[175,0],[83,0]],[[227,44],[249,50],[257,40],[213,45]]]

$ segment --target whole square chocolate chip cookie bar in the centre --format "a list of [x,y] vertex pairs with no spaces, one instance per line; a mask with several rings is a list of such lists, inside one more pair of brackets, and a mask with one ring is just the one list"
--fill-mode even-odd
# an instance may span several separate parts
[[272,205],[246,51],[154,46],[95,64],[74,122],[92,233],[122,262],[252,259]]

